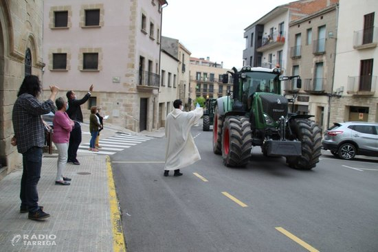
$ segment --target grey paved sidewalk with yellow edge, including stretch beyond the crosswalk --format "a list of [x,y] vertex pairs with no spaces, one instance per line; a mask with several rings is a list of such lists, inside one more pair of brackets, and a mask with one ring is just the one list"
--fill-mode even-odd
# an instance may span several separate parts
[[[89,126],[82,125],[82,143]],[[105,124],[100,137],[133,133]],[[137,134],[137,133],[135,133]],[[163,137],[164,128],[144,132]],[[0,251],[126,251],[109,157],[78,153],[80,165],[67,163],[71,185],[55,185],[57,155],[43,153],[39,203],[51,215],[29,220],[19,213],[22,169],[0,181]]]

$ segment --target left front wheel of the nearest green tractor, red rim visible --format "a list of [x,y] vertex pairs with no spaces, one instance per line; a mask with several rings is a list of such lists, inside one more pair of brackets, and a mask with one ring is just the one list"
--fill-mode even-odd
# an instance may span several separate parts
[[222,157],[226,166],[243,167],[251,157],[252,130],[247,117],[225,119],[222,134]]

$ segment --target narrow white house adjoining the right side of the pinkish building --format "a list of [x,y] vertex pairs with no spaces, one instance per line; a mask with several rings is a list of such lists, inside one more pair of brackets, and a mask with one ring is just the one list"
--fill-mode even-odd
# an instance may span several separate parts
[[173,101],[178,98],[177,76],[179,76],[179,59],[162,49],[162,73],[159,89],[159,127],[166,124],[166,116],[173,110]]

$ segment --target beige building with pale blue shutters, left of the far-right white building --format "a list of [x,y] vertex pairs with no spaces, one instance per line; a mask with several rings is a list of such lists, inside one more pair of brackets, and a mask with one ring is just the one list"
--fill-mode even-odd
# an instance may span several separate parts
[[289,23],[287,75],[300,76],[285,82],[287,98],[296,100],[294,112],[315,115],[311,119],[326,129],[335,69],[338,4]]

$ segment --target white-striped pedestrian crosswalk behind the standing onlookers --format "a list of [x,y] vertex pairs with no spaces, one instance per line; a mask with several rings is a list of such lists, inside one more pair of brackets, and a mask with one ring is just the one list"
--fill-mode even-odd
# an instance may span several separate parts
[[133,146],[136,146],[137,144],[141,144],[144,141],[148,141],[151,139],[153,139],[153,137],[146,137],[144,135],[137,135],[131,133],[119,133],[112,137],[107,137],[106,139],[102,139],[100,137],[100,141],[98,141],[98,144],[102,148],[99,148],[98,152],[92,152],[91,150],[88,150],[89,142],[85,144],[80,144],[78,152],[112,155],[126,148],[131,148]]

